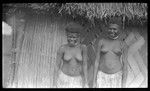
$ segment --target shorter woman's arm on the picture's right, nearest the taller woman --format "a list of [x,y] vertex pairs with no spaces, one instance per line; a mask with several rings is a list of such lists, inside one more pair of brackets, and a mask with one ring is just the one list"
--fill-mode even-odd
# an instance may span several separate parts
[[87,74],[87,47],[85,45],[83,45],[82,50],[83,50],[82,56],[83,56],[83,71],[84,71],[84,84],[83,85],[85,86],[88,83],[88,78],[87,78],[87,76],[88,76],[88,74]]

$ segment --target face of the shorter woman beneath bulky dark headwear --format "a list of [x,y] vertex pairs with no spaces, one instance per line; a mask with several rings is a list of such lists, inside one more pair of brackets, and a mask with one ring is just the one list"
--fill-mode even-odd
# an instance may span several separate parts
[[79,36],[77,33],[68,33],[67,40],[70,45],[75,46],[79,43]]

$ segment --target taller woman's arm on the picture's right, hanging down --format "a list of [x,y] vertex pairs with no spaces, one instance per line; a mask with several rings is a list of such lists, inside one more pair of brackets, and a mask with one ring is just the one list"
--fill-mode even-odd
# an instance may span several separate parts
[[127,82],[127,52],[128,52],[128,46],[123,43],[123,49],[122,49],[122,63],[123,63],[123,74],[122,74],[122,87],[126,87],[126,82]]

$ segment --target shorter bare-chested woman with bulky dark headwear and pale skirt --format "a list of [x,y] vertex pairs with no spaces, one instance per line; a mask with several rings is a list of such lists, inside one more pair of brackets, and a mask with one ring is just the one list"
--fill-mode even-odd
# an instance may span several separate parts
[[78,28],[66,28],[68,44],[57,53],[54,86],[58,88],[82,88],[87,84],[87,49],[80,44]]

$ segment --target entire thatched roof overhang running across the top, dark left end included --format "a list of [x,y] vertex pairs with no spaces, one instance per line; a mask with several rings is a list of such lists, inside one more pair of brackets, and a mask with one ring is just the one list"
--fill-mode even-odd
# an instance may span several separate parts
[[50,13],[52,9],[58,14],[69,14],[73,17],[77,15],[90,20],[121,16],[122,21],[140,20],[147,22],[147,3],[22,3],[4,4],[11,7],[7,10],[10,14],[18,8],[30,8],[35,13]]

